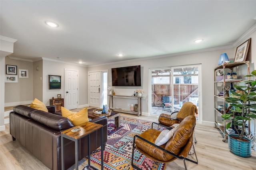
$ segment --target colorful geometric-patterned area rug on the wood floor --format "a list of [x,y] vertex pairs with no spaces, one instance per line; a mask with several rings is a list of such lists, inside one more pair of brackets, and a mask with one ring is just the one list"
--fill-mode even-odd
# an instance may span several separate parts
[[[108,121],[108,141],[104,150],[104,169],[132,170],[132,144],[134,135],[151,128],[152,122],[129,117],[120,117],[120,127],[114,120]],[[162,129],[160,129],[162,130]],[[100,168],[100,148],[91,154],[91,163]],[[164,163],[154,162],[142,153],[134,150],[134,164],[142,170],[164,170]]]

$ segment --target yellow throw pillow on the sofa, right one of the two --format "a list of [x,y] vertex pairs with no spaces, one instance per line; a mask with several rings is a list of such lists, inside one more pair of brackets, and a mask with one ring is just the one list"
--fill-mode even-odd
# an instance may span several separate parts
[[75,126],[89,121],[87,107],[78,112],[73,112],[66,109],[65,107],[61,107],[61,114],[63,117],[70,119],[70,121]]

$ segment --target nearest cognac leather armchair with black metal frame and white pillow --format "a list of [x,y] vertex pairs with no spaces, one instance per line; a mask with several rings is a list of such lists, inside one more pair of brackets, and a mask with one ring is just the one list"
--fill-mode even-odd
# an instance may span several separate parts
[[[174,135],[167,141],[167,143],[157,146],[155,141],[161,131],[156,129],[148,129],[141,133],[139,136],[134,136],[133,148],[132,148],[132,167],[139,170],[134,164],[134,149],[136,148],[142,154],[148,158],[156,161],[168,163],[174,160],[181,159],[184,160],[184,166],[186,167],[185,160],[198,164],[198,159],[196,161],[187,158],[190,148],[194,145],[192,143],[194,127],[196,125],[196,118],[194,115],[187,116],[180,122],[180,125],[176,127]],[[196,152],[195,156],[196,156]]]

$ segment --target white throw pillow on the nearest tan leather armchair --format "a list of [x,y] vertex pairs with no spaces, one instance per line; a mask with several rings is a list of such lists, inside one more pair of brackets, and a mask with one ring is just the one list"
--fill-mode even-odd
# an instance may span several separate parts
[[168,142],[169,139],[171,139],[171,137],[173,136],[174,132],[176,131],[176,127],[178,127],[178,125],[179,124],[175,124],[174,128],[172,128],[171,130],[164,129],[156,138],[155,145],[161,146]]

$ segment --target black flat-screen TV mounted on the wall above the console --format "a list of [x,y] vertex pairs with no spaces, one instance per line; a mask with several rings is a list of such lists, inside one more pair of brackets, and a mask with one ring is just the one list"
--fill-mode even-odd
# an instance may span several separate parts
[[140,65],[112,68],[112,86],[141,86]]

